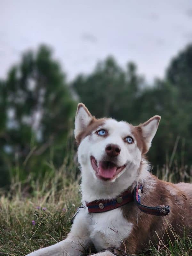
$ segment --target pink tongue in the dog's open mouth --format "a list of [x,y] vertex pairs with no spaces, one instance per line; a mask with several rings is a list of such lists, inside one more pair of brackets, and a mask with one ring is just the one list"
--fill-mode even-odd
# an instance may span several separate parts
[[108,164],[108,162],[99,162],[98,175],[105,179],[112,179],[116,172],[116,169],[117,166],[115,164]]

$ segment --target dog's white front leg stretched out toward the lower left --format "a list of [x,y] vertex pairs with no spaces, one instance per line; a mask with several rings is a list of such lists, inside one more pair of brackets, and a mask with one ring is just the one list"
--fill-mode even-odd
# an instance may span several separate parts
[[80,256],[91,244],[84,209],[77,214],[67,238],[57,244],[29,253],[27,256]]

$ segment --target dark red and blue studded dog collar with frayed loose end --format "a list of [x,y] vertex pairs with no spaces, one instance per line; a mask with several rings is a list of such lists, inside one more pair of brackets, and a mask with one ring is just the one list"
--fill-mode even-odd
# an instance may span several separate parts
[[143,187],[142,185],[139,185],[134,188],[134,191],[127,189],[114,199],[100,199],[89,203],[86,202],[86,206],[90,213],[98,213],[111,211],[113,209],[119,208],[125,204],[135,201],[138,208],[142,212],[156,216],[166,216],[170,213],[169,205],[158,205],[155,207],[151,207],[141,204],[140,196],[142,193]]

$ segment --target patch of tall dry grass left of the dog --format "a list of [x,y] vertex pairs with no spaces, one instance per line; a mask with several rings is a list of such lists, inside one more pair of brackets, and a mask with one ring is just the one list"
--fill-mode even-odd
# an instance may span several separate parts
[[[43,179],[12,176],[0,190],[0,255],[26,255],[65,238],[80,204],[80,173],[70,151],[62,166],[49,163]],[[50,171],[51,170],[51,171]]]

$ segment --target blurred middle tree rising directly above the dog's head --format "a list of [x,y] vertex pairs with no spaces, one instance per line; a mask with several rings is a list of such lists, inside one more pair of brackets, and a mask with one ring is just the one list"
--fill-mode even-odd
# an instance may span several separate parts
[[124,71],[112,57],[99,62],[92,74],[80,75],[72,83],[80,101],[96,117],[134,120],[130,111],[138,98],[143,78],[136,74],[133,63]]

